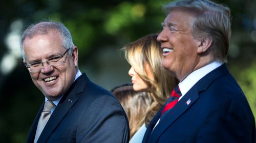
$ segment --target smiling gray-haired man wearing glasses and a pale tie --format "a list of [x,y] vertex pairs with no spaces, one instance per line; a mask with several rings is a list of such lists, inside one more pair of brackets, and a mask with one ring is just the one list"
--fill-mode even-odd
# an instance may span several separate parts
[[116,98],[78,69],[78,49],[62,23],[31,25],[21,50],[45,102],[27,142],[128,142],[129,124]]

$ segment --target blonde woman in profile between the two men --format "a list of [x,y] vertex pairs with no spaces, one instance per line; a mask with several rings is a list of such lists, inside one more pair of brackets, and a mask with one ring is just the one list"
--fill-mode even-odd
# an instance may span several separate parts
[[131,143],[142,142],[146,126],[178,84],[178,80],[161,65],[163,56],[157,36],[144,36],[123,48],[125,58],[132,66],[129,75],[132,76],[133,89],[148,92],[153,99],[141,115],[138,131],[132,136]]

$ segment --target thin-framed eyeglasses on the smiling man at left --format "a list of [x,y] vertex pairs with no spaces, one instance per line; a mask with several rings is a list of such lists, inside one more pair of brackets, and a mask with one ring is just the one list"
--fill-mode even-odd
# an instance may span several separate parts
[[63,54],[54,56],[47,59],[45,62],[35,62],[35,63],[25,63],[25,66],[29,69],[30,72],[38,72],[44,67],[44,63],[47,63],[49,66],[58,66],[61,62],[58,62],[71,48],[67,49]]

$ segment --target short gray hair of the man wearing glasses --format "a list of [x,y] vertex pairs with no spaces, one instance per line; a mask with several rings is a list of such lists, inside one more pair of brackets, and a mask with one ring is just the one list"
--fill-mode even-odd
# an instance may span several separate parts
[[[41,21],[36,24],[31,24],[24,31],[22,37],[20,38],[20,50],[22,52],[23,60],[26,61],[26,53],[24,52],[23,43],[26,38],[33,38],[37,35],[46,35],[50,31],[57,31],[60,33],[62,37],[62,46],[66,49],[74,47],[74,43],[72,40],[72,36],[68,30],[68,28],[60,23],[54,21]],[[72,54],[72,50],[69,50],[69,54]]]

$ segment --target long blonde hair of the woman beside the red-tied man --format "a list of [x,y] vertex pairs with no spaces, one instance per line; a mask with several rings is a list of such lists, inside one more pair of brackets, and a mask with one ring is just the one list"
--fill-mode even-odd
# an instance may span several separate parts
[[[144,114],[144,119],[140,121],[141,125],[145,123],[146,126],[164,105],[167,97],[169,97],[170,93],[178,84],[177,78],[161,65],[163,56],[157,36],[157,34],[144,36],[123,48],[125,59],[142,80],[145,81],[148,87],[147,92],[153,98],[152,104]],[[147,77],[145,70],[146,64],[148,64],[153,73],[153,80]]]

